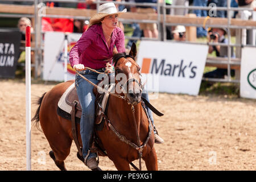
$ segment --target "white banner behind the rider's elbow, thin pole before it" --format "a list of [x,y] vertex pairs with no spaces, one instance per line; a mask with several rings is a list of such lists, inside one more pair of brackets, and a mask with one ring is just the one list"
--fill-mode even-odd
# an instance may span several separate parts
[[[69,51],[75,46],[82,34],[68,34]],[[64,81],[64,32],[46,32],[44,35],[43,80]],[[67,80],[75,79],[75,70],[68,60]]]

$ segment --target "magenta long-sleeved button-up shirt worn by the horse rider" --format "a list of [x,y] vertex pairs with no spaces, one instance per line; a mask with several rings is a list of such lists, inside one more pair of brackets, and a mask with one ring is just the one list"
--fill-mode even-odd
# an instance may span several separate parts
[[69,52],[69,62],[72,67],[75,64],[84,64],[85,67],[92,69],[105,68],[106,63],[113,57],[114,45],[118,52],[125,52],[125,34],[121,28],[114,29],[108,47],[101,24],[94,24],[82,34],[76,45],[72,47]]

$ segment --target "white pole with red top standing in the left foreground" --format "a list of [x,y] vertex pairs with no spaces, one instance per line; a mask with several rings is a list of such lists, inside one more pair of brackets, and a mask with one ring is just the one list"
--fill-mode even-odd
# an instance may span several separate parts
[[31,171],[31,34],[26,27],[26,157],[27,171]]

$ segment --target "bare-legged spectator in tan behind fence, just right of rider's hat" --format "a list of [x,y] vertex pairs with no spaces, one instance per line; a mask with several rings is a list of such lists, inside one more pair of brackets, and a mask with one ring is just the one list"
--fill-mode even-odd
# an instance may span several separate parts
[[[156,3],[156,0],[135,0],[137,3]],[[156,13],[156,7],[137,6],[137,13],[147,14]],[[139,27],[143,30],[146,38],[158,38],[158,28],[156,23],[139,23]]]

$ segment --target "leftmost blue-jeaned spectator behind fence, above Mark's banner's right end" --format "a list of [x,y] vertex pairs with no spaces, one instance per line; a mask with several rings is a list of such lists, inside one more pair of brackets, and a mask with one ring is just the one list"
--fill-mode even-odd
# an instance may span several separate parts
[[[193,6],[204,6],[207,7],[208,0],[194,0]],[[207,10],[193,10],[193,13],[196,14],[197,17],[207,16]],[[207,36],[207,30],[203,27],[196,28],[196,36],[197,38]]]

